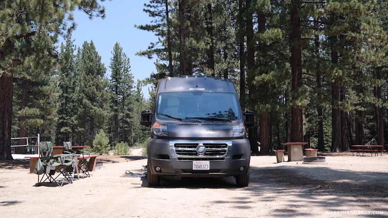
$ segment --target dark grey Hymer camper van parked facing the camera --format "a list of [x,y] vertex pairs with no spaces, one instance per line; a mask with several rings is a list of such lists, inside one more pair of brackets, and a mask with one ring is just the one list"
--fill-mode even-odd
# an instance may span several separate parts
[[153,111],[143,110],[140,125],[151,128],[147,153],[148,185],[161,177],[234,176],[249,183],[250,144],[246,128],[252,111],[242,113],[233,83],[207,76],[163,77]]

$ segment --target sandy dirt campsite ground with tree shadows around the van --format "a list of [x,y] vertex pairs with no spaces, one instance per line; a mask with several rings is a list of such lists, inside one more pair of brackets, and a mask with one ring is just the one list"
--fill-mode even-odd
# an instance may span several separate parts
[[252,156],[244,188],[231,177],[162,179],[156,188],[120,177],[145,172],[137,155],[99,156],[91,177],[63,187],[35,187],[28,160],[0,161],[0,217],[388,217],[388,154],[324,153],[324,164]]

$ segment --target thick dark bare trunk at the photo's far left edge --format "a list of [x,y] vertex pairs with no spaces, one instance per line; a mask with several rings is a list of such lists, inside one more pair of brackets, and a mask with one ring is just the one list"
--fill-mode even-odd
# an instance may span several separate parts
[[0,74],[0,160],[12,160],[11,121],[12,121],[13,75]]

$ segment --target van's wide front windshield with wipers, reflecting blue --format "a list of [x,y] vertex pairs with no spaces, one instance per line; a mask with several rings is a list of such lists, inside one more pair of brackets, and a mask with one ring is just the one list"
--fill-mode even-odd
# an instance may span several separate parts
[[[233,93],[173,92],[160,93],[156,102],[158,119],[221,118],[239,120],[241,109]],[[168,115],[168,116],[165,116]]]

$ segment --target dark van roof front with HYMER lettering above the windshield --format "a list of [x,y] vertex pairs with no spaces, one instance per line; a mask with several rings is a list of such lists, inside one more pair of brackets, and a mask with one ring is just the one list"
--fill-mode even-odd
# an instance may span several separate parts
[[229,79],[208,76],[164,77],[158,82],[157,93],[161,92],[223,92],[236,93]]

